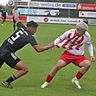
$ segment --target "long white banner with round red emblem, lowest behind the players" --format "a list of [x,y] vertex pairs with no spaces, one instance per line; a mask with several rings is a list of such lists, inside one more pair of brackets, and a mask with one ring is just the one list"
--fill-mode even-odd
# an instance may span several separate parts
[[37,16],[27,16],[27,21],[34,20],[40,23],[60,23],[60,24],[76,24],[83,21],[83,19],[77,18],[56,18],[56,17],[37,17]]

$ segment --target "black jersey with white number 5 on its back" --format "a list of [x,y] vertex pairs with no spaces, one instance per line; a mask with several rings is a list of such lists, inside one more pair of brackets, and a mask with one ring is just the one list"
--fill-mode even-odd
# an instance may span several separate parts
[[28,43],[32,46],[37,45],[32,33],[29,32],[21,22],[18,22],[17,30],[4,41],[2,46],[6,47],[11,52],[16,52]]

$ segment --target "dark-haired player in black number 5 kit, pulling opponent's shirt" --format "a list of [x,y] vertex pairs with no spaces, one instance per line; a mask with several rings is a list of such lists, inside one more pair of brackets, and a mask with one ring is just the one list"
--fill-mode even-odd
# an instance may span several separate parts
[[8,37],[0,47],[0,67],[5,62],[8,66],[17,70],[15,74],[1,83],[2,86],[6,88],[13,88],[11,82],[28,72],[28,68],[24,65],[23,61],[15,55],[17,50],[21,49],[28,43],[30,43],[37,52],[42,52],[53,47],[52,43],[47,46],[38,45],[35,38],[32,36],[36,32],[38,24],[34,21],[30,21],[25,27],[21,23],[15,10],[16,6],[13,8],[13,16],[17,22],[17,30]]

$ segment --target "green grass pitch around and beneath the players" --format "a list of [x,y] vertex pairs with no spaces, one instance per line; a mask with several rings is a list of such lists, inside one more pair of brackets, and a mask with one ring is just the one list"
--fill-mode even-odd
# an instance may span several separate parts
[[[35,38],[38,44],[46,45],[70,28],[74,28],[74,25],[39,24]],[[95,31],[95,26],[89,26],[94,47],[96,46]],[[0,25],[0,43],[12,32],[12,23],[6,22],[4,26]],[[89,58],[89,53],[86,49],[85,54]],[[71,79],[79,70],[73,64],[69,64],[60,70],[47,88],[40,88],[48,72],[56,64],[62,52],[63,49],[54,48],[53,50],[37,53],[30,45],[19,50],[16,54],[25,62],[29,68],[29,73],[12,83],[14,89],[0,86],[0,96],[96,96],[95,62],[92,63],[91,68],[80,80],[80,84],[82,85],[82,89],[80,90],[76,89],[71,83]],[[94,53],[96,54],[96,52]],[[14,71],[4,64],[0,69],[0,82],[6,80]]]

